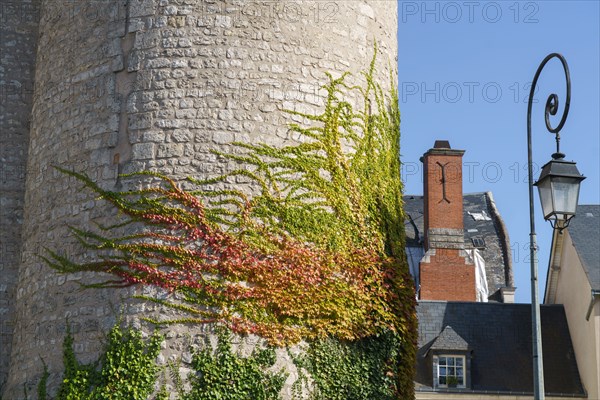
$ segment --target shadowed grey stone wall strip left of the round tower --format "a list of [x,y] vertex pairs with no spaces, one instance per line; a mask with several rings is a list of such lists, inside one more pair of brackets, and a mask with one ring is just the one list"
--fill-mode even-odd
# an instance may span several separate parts
[[12,342],[38,11],[36,1],[0,0],[0,392]]

